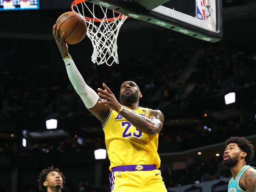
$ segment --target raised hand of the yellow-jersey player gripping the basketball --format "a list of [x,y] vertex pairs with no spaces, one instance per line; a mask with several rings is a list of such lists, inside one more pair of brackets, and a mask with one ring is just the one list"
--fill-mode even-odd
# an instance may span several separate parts
[[52,28],[52,35],[54,36],[54,39],[56,41],[56,44],[59,47],[60,54],[62,58],[68,56],[68,45],[64,41],[65,32],[60,37],[60,28],[57,28],[57,25],[54,24]]

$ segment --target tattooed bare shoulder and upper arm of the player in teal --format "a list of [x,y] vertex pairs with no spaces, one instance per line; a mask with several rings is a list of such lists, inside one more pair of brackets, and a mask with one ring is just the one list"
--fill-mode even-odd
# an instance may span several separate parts
[[244,181],[244,187],[247,192],[256,192],[256,170],[248,170],[246,171],[241,179]]

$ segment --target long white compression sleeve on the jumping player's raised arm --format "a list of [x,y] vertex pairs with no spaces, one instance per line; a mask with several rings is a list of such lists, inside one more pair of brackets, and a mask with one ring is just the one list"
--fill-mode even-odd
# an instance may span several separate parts
[[83,100],[85,107],[92,108],[97,103],[99,95],[84,82],[83,77],[79,73],[74,61],[70,56],[68,58],[64,58],[63,60],[66,65],[71,84]]

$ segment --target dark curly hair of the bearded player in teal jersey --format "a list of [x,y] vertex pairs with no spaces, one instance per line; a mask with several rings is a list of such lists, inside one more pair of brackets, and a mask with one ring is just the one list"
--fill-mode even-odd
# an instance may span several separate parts
[[228,140],[226,140],[225,147],[227,147],[229,143],[236,143],[237,146],[242,151],[247,153],[247,155],[245,156],[246,163],[252,160],[254,156],[254,150],[253,150],[253,145],[251,144],[251,141],[244,139],[244,137],[230,137]]

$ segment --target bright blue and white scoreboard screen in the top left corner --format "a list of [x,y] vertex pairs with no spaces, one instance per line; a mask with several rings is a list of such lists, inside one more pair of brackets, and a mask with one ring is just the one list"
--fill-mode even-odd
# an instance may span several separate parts
[[0,0],[0,11],[39,9],[39,0]]

